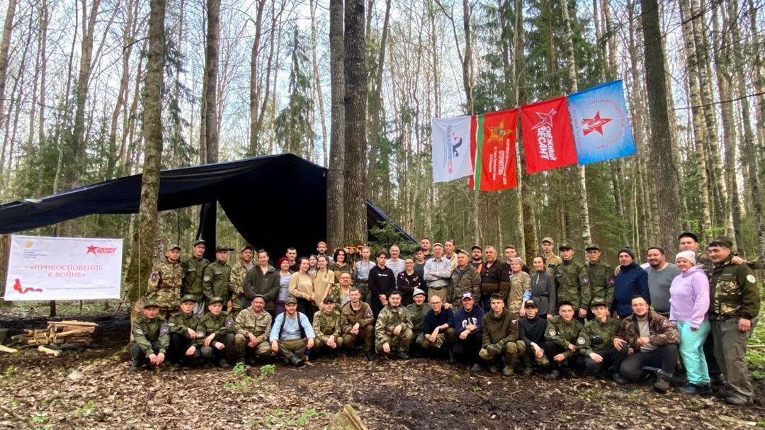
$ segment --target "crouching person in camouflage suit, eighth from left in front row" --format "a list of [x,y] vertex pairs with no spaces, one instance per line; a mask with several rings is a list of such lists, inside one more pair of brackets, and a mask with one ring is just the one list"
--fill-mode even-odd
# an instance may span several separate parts
[[388,305],[377,315],[375,324],[375,350],[388,356],[396,354],[403,360],[409,358],[412,344],[412,315],[401,305],[401,293],[393,290]]

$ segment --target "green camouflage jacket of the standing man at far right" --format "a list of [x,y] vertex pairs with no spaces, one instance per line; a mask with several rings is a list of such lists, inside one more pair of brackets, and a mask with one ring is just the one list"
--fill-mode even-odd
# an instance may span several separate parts
[[735,265],[730,257],[711,272],[709,311],[718,318],[746,318],[760,313],[760,290],[754,271],[745,264]]

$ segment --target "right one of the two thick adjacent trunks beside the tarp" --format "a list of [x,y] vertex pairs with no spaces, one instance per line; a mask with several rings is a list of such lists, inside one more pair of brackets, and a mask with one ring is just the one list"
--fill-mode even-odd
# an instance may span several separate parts
[[345,242],[366,243],[366,73],[364,1],[345,4]]

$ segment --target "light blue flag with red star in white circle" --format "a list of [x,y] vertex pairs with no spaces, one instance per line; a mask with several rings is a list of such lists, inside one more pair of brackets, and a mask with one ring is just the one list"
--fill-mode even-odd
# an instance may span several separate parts
[[580,165],[635,153],[621,80],[568,96]]

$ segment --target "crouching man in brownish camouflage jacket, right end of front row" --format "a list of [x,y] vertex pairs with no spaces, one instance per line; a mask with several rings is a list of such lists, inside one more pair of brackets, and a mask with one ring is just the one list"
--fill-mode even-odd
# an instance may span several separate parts
[[620,321],[614,337],[614,347],[626,348],[629,354],[622,361],[619,373],[629,381],[639,381],[646,376],[646,367],[659,369],[653,389],[666,393],[677,366],[680,334],[675,324],[650,310],[643,296],[636,295],[631,305],[632,314]]

